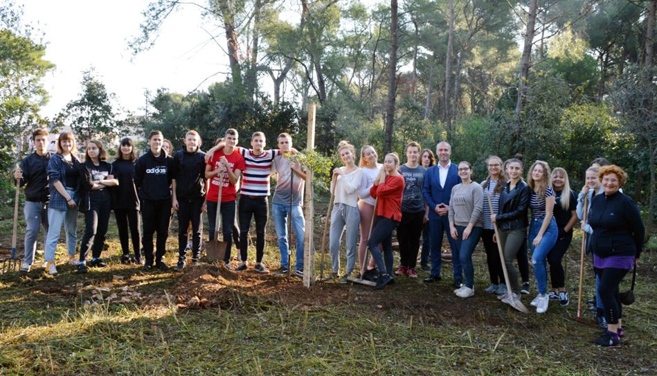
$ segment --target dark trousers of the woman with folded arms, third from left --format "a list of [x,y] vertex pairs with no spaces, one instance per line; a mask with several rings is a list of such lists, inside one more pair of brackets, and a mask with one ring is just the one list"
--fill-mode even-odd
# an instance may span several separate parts
[[87,259],[90,249],[92,258],[100,258],[111,213],[111,200],[102,199],[104,197],[105,195],[91,193],[89,211],[84,213],[84,236],[80,242],[80,261]]

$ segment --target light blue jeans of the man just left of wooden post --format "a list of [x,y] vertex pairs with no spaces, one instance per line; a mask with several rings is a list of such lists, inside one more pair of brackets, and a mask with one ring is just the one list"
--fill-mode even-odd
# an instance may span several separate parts
[[[296,266],[294,269],[303,271],[303,240],[305,239],[305,221],[301,206],[292,206],[292,226],[296,235]],[[289,269],[287,258],[289,257],[289,241],[287,233],[287,218],[290,215],[290,206],[285,204],[272,204],[271,214],[273,225],[276,228],[278,238],[278,250],[280,251],[280,267]]]

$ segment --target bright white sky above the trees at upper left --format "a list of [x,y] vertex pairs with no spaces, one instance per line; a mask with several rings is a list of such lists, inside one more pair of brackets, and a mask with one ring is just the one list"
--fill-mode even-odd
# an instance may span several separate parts
[[[195,6],[173,12],[156,44],[132,55],[128,42],[139,33],[148,1],[17,0],[16,4],[24,8],[24,23],[44,33],[46,60],[56,65],[43,80],[50,94],[40,111],[44,117],[54,118],[80,96],[82,72],[91,67],[107,91],[116,94],[117,104],[137,115],[144,112],[146,89],[188,93],[224,80],[229,71],[226,54],[208,34],[221,35],[222,30],[204,21]],[[210,75],[214,76],[206,80]]]

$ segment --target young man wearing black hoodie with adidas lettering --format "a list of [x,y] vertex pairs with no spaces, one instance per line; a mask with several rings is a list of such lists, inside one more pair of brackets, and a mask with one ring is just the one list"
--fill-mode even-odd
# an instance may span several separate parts
[[[134,185],[139,190],[144,224],[142,249],[146,261],[142,267],[143,271],[149,271],[153,266],[161,271],[169,271],[163,258],[169,235],[173,159],[162,150],[163,142],[162,132],[150,132],[148,135],[150,150],[137,159],[134,168]],[[157,244],[153,256],[155,233],[157,233]]]

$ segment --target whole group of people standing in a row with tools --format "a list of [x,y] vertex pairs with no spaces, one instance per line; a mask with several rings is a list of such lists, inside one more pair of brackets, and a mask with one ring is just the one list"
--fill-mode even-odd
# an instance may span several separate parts
[[[148,136],[149,149],[142,156],[137,156],[130,138],[123,138],[113,163],[107,163],[107,152],[96,140],[87,141],[85,158],[81,161],[75,137],[69,132],[62,132],[57,138],[57,152],[52,155],[46,152],[45,129],[37,129],[32,138],[35,152],[15,170],[15,178],[25,186],[26,197],[25,256],[21,270],[30,270],[37,233],[44,225],[46,271],[57,274],[55,248],[62,224],[69,262],[78,267],[78,272],[87,272],[89,251],[89,267],[105,267],[100,256],[111,210],[115,213],[123,251],[121,262],[141,264],[144,271],[169,270],[163,257],[170,221],[177,213],[179,258],[174,269],[181,270],[188,262],[187,251],[191,251],[192,263],[199,261],[202,213],[207,211],[209,239],[213,240],[215,226],[219,226],[215,217],[220,218],[227,243],[224,262],[235,271],[249,267],[249,227],[251,220],[255,220],[253,269],[267,273],[262,258],[269,218],[269,177],[276,173],[271,208],[280,251],[280,268],[276,273],[291,272],[291,234],[287,222],[291,221],[290,227],[294,227],[296,235],[294,274],[303,276],[305,221],[301,206],[307,169],[294,158],[297,151],[289,134],[278,136],[278,149],[267,150],[262,132],[255,132],[251,136],[251,148],[244,148],[237,146],[237,130],[228,129],[204,153],[200,150],[201,138],[193,130],[186,134],[183,149],[177,152],[173,152],[161,132],[153,131]],[[531,305],[536,307],[536,312],[543,313],[550,301],[558,301],[560,305],[569,303],[562,259],[573,238],[575,224],[588,213],[582,229],[589,234],[586,249],[593,253],[596,275],[596,298],[592,303],[598,321],[606,325],[596,343],[620,344],[624,332],[619,285],[640,256],[645,235],[636,204],[620,189],[627,181],[622,168],[596,159],[586,170],[584,188],[575,195],[566,170],[550,170],[546,161],[532,163],[525,180],[521,156],[507,161],[489,156],[488,176],[478,183],[473,179],[469,162],[451,162],[451,145],[445,141],[436,146],[438,161],[432,150],[423,150],[416,142],[408,143],[404,152],[405,163],[401,163],[396,153],[390,153],[381,165],[374,147],[361,147],[357,156],[353,145],[347,141],[339,143],[337,154],[343,166],[335,168],[332,174],[334,199],[329,245],[332,271],[326,280],[348,283],[358,256],[363,278],[375,281],[375,288],[380,289],[393,283],[393,275],[417,278],[415,268],[420,253],[420,267],[430,272],[423,281],[434,283],[442,279],[442,242],[447,235],[456,296],[468,298],[475,294],[472,254],[482,240],[490,277],[490,285],[484,291],[498,296],[512,294],[514,299],[519,299],[521,294],[530,293],[529,244],[538,289]],[[79,256],[76,252],[78,211],[84,213],[86,224]],[[393,270],[395,230],[399,266]],[[129,238],[132,238],[133,256],[129,252]],[[235,266],[231,264],[233,240],[238,250]],[[347,265],[340,275],[343,240]],[[503,250],[503,261],[496,243]],[[368,251],[372,259],[365,265]],[[519,269],[514,266],[514,260]],[[502,262],[508,272],[508,286]],[[548,264],[552,285],[549,292]]]

